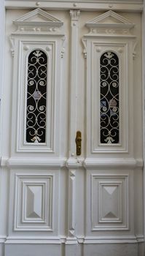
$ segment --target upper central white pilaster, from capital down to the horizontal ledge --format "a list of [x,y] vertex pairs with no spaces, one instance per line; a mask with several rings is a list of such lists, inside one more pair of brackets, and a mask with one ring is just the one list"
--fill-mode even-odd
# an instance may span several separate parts
[[79,48],[79,10],[70,10],[71,16],[71,56],[70,56],[70,107],[69,107],[69,154],[70,158],[76,157],[76,138],[77,132],[77,87],[78,87],[78,48]]

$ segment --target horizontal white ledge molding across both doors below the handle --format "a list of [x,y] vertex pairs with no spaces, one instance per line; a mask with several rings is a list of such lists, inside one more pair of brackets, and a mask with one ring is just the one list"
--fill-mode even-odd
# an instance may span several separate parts
[[15,167],[48,167],[57,168],[68,167],[70,169],[78,167],[85,167],[86,169],[94,168],[107,168],[107,169],[141,169],[143,167],[143,159],[134,158],[78,158],[78,159],[66,159],[66,158],[46,158],[46,157],[2,157],[1,166],[7,166],[9,168]]

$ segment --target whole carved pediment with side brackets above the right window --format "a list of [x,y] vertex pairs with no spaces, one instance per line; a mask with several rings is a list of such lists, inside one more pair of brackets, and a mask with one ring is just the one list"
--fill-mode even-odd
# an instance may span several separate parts
[[[82,38],[82,44],[84,46],[84,56],[87,58],[87,39],[93,37],[108,37],[108,38],[123,38],[131,39],[135,42],[133,45],[133,59],[136,57],[136,36],[133,35],[133,27],[135,26],[127,18],[124,18],[122,15],[119,15],[116,12],[109,10],[108,12],[98,15],[92,20],[87,21],[85,26],[90,29],[88,34]],[[99,49],[98,49],[99,50]],[[122,52],[122,49],[119,49],[119,53]]]

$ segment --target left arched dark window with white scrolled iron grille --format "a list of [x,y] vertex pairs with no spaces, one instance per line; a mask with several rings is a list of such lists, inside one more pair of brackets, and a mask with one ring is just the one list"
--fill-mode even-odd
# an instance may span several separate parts
[[28,56],[26,142],[45,143],[47,55],[33,50]]

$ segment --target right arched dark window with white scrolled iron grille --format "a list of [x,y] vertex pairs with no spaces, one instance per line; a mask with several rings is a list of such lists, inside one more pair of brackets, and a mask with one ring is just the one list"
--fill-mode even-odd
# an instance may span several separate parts
[[119,59],[113,52],[100,60],[100,129],[101,143],[119,143]]

